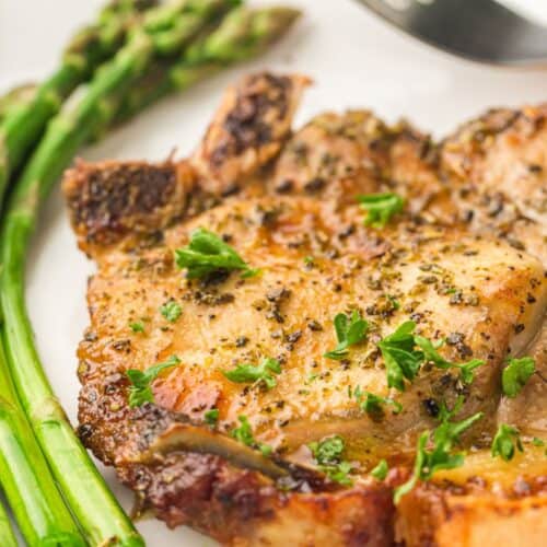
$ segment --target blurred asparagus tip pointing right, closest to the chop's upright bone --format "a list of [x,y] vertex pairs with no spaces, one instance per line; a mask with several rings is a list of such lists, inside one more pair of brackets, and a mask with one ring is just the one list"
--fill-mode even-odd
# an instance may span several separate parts
[[252,59],[277,42],[300,16],[291,8],[232,11],[212,33],[190,46],[175,63],[154,66],[123,98],[115,123],[121,124],[168,93],[184,91],[222,68]]

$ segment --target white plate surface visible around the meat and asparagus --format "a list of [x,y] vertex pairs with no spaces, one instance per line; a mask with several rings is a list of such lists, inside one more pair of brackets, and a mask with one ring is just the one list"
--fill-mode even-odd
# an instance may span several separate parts
[[[163,102],[82,155],[154,161],[174,147],[187,153],[203,132],[224,86],[246,71],[264,68],[314,78],[316,85],[304,98],[298,124],[324,109],[369,107],[388,120],[404,116],[441,136],[487,107],[547,97],[547,72],[456,60],[407,38],[350,0],[287,1],[304,8],[305,18],[269,55]],[[0,0],[0,89],[46,75],[70,33],[89,21],[101,3]],[[92,264],[75,248],[57,189],[33,243],[27,303],[47,373],[72,420],[79,389],[74,350],[88,324],[84,294],[92,272]],[[129,509],[130,492],[116,484],[112,472],[105,470],[105,476]],[[151,546],[213,545],[186,528],[168,531],[155,521],[137,525]]]

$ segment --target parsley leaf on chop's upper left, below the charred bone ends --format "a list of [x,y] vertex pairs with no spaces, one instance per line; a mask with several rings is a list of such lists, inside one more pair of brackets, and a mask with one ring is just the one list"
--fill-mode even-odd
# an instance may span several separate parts
[[175,260],[179,268],[186,268],[188,279],[207,277],[217,271],[242,270],[244,277],[259,272],[249,268],[221,237],[202,228],[191,233],[186,247],[175,251]]

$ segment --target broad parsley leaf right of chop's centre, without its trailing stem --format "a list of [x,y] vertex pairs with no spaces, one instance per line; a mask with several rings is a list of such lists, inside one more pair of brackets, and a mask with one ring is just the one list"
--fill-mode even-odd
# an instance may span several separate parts
[[415,328],[416,323],[407,321],[377,344],[387,371],[387,386],[399,392],[405,391],[405,379],[416,377],[423,361],[423,353],[415,350]]

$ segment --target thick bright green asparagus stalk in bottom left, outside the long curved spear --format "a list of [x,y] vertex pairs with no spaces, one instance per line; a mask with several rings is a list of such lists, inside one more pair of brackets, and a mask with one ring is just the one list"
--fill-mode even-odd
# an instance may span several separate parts
[[[0,479],[28,545],[82,545],[34,432],[20,408],[0,340]],[[2,540],[0,533],[0,545]]]

